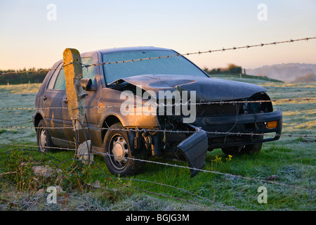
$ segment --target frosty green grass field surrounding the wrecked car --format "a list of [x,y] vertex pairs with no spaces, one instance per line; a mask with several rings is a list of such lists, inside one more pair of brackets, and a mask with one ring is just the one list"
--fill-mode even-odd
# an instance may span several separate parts
[[[228,75],[216,78],[259,84],[268,90],[272,100],[294,99],[274,103],[275,110],[283,111],[283,134],[316,136],[316,101],[299,100],[315,98],[315,83],[280,83]],[[0,86],[0,108],[34,107],[39,86]],[[0,127],[33,127],[32,113],[1,110]],[[264,143],[258,155],[228,158],[216,149],[206,157],[206,170],[258,180],[276,175],[274,182],[288,186],[210,172],[199,172],[190,179],[188,169],[154,163],[147,163],[137,176],[113,177],[99,156],[94,159],[96,165],[87,167],[70,160],[73,151],[44,155],[34,151],[36,148],[7,145],[36,145],[34,129],[0,128],[0,143],[0,174],[6,173],[0,176],[0,210],[316,210],[315,192],[305,190],[316,190],[315,138],[282,136],[279,141]],[[154,161],[186,166],[183,162]],[[29,163],[21,166],[25,162]],[[65,182],[34,179],[30,169],[34,165],[60,169]],[[100,181],[101,188],[87,185],[96,181]],[[41,191],[57,183],[65,192],[58,195],[58,204],[48,204],[48,193]],[[268,203],[258,203],[261,186],[267,188]]]

